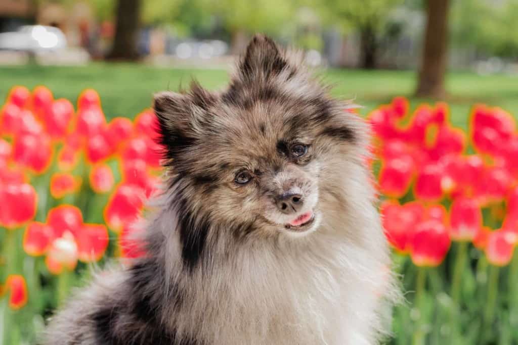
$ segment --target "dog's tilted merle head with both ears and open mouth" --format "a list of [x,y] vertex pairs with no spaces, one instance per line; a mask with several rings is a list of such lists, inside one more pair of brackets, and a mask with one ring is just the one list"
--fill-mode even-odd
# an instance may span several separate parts
[[336,212],[325,203],[343,198],[337,187],[348,172],[340,162],[357,158],[361,121],[303,68],[256,36],[226,91],[193,84],[155,96],[170,188],[182,211],[196,215],[195,228],[301,236],[332,216],[326,210]]

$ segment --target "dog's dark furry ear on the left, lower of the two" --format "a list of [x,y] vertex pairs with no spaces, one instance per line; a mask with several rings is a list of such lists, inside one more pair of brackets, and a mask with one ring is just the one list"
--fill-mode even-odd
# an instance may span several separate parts
[[164,91],[154,95],[153,110],[159,120],[160,143],[174,158],[182,149],[191,146],[207,122],[207,110],[217,97],[192,82],[188,93]]

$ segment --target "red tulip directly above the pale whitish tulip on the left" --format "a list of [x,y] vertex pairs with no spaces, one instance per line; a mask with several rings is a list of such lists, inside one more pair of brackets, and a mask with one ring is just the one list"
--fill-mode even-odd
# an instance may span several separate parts
[[50,209],[47,224],[52,229],[54,238],[62,237],[65,232],[75,236],[83,226],[83,215],[76,206],[60,205]]

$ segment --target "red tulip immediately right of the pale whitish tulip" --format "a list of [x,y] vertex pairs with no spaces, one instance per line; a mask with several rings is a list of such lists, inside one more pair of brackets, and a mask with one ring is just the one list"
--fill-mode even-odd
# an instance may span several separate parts
[[108,248],[108,230],[103,224],[84,224],[76,234],[79,260],[99,261]]

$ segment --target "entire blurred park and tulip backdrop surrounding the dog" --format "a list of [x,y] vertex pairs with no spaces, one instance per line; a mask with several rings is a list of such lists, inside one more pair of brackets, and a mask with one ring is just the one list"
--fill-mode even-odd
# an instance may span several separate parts
[[141,254],[151,95],[224,87],[255,33],[373,125],[407,298],[388,343],[518,344],[516,18],[518,0],[1,0],[0,345],[34,343],[92,263]]

